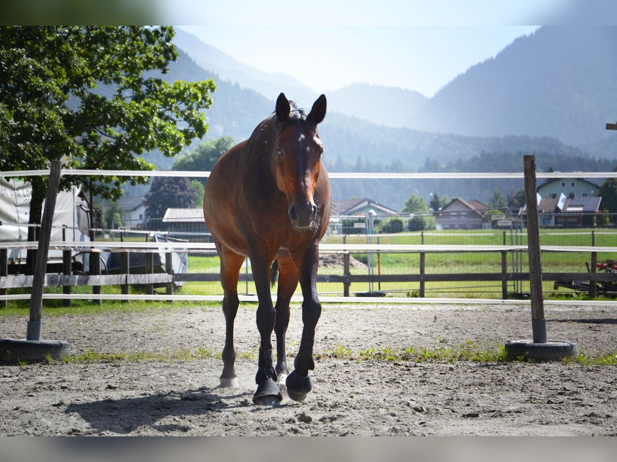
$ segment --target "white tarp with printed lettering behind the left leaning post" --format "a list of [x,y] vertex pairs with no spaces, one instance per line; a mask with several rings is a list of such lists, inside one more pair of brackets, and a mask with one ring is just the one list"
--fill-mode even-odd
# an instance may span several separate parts
[[[86,241],[88,238],[88,206],[78,196],[80,190],[61,191],[56,198],[56,209],[51,240],[62,240],[62,226],[66,225],[66,240]],[[30,218],[30,182],[0,178],[0,242],[28,241]],[[83,208],[81,207],[83,206]],[[43,209],[45,203],[43,202]],[[9,250],[9,259],[25,259],[26,251]],[[49,251],[49,258],[61,258],[61,251]]]

